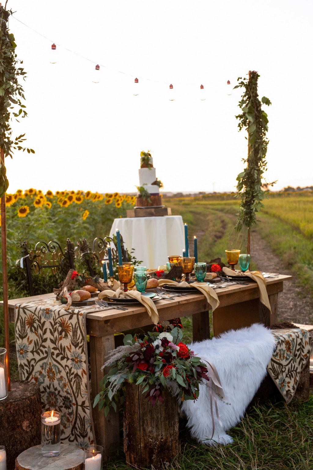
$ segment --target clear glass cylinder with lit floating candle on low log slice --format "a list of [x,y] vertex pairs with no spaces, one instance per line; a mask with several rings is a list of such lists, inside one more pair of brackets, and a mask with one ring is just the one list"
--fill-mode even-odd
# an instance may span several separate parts
[[45,411],[41,415],[41,454],[56,457],[61,452],[61,414]]

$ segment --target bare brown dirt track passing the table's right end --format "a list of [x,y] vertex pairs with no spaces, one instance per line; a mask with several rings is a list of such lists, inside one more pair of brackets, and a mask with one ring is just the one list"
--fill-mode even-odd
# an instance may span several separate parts
[[[255,229],[252,230],[252,235],[251,257],[258,269],[269,273],[292,275]],[[301,287],[297,287],[297,278],[293,277],[291,281],[284,282],[283,289],[283,292],[278,294],[278,320],[313,325],[313,301],[306,296]]]

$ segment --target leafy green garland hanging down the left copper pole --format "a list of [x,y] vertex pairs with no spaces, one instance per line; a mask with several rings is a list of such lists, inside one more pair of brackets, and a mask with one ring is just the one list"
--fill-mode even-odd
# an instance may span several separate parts
[[[0,149],[3,151],[4,157],[10,156],[12,158],[13,150],[35,152],[33,149],[23,147],[23,141],[26,140],[24,139],[25,134],[12,140],[11,112],[18,122],[18,118],[25,118],[27,112],[26,106],[22,104],[22,100],[25,100],[24,90],[18,81],[19,77],[25,79],[26,72],[22,67],[19,67],[23,61],[17,59],[14,35],[8,30],[7,23],[10,15],[12,15],[12,10],[0,7]],[[8,184],[6,167],[1,158],[0,197],[5,194]]]

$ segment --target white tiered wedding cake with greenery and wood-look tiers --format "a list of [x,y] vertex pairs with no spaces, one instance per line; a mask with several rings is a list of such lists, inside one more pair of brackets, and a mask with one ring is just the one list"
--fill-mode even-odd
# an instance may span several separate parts
[[136,199],[137,207],[162,205],[160,186],[162,183],[155,177],[153,158],[148,152],[140,153],[139,187]]

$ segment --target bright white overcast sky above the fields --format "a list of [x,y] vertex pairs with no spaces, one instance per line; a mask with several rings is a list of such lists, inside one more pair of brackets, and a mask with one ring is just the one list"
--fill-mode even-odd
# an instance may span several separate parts
[[36,152],[6,159],[8,192],[134,192],[148,149],[164,191],[234,190],[247,141],[235,118],[242,92],[232,88],[249,70],[272,102],[267,181],[277,180],[274,190],[313,185],[312,1],[8,0],[7,8],[27,71],[28,117],[12,123],[13,134],[25,132]]

